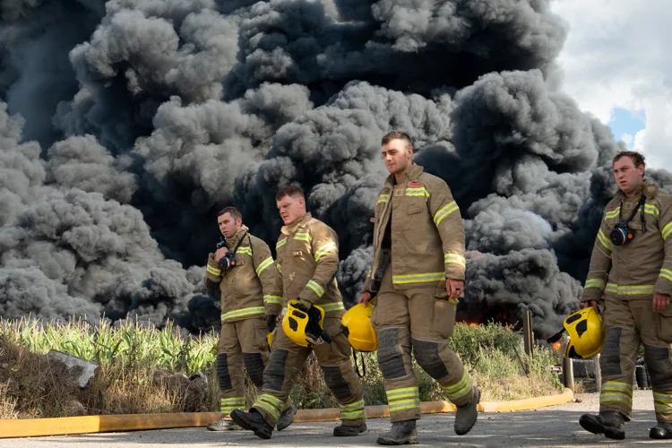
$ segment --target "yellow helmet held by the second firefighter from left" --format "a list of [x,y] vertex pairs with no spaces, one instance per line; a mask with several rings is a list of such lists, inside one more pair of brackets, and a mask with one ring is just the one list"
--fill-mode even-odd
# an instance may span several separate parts
[[329,334],[323,330],[324,310],[321,306],[311,306],[305,311],[298,300],[290,300],[287,314],[282,318],[282,331],[301,347],[331,342]]

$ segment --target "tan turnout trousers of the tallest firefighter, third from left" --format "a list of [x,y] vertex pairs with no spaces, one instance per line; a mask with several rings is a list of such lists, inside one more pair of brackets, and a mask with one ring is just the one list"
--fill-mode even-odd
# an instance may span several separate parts
[[[392,265],[392,263],[391,263]],[[411,351],[428,375],[444,389],[456,406],[473,396],[471,377],[450,347],[455,306],[445,289],[401,290],[392,284],[392,267],[383,275],[374,298],[371,323],[378,335],[378,366],[392,422],[420,418],[418,379],[411,365]]]

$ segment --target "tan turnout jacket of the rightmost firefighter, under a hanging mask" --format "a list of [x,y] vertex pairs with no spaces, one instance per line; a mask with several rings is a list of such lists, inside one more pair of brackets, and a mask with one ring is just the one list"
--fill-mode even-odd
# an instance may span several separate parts
[[[643,233],[638,210],[629,227],[634,238],[615,246],[609,234],[620,220],[627,220],[637,202],[646,196]],[[672,293],[672,197],[658,185],[644,180],[632,198],[619,189],[607,203],[590,256],[590,268],[582,301],[598,300],[602,293],[625,300],[651,298],[653,293]]]

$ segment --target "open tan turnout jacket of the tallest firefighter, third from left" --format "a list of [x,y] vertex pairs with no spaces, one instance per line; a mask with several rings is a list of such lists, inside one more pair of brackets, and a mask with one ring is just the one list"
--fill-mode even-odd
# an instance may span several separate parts
[[445,289],[446,279],[464,280],[464,226],[443,179],[415,163],[399,184],[393,175],[387,177],[375,204],[374,262],[364,291],[372,292],[388,225],[395,288]]

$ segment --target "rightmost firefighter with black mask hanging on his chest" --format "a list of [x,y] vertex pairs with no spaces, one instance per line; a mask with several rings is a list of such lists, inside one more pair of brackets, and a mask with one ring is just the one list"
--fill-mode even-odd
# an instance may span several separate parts
[[582,296],[582,305],[597,311],[606,292],[599,415],[584,414],[579,423],[593,434],[625,438],[643,344],[658,420],[649,435],[672,439],[672,197],[644,178],[638,152],[617,153],[612,168],[618,190],[605,208]]

